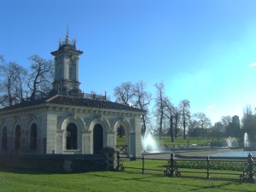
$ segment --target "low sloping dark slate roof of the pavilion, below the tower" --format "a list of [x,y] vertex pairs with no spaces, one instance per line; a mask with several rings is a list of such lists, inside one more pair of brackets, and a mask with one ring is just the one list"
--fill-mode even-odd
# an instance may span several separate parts
[[31,102],[20,102],[19,104],[16,104],[14,106],[10,106],[7,108],[1,108],[0,111],[12,110],[12,109],[18,109],[18,108],[26,108],[26,107],[30,107],[30,106],[43,104],[43,103],[81,106],[81,107],[85,107],[85,108],[106,108],[106,109],[124,110],[124,111],[141,112],[141,113],[146,112],[143,109],[132,108],[132,107],[125,106],[125,105],[117,103],[117,102],[110,102],[107,100],[81,98],[81,97],[75,97],[75,96],[61,96],[61,95],[38,99],[35,101],[31,101]]

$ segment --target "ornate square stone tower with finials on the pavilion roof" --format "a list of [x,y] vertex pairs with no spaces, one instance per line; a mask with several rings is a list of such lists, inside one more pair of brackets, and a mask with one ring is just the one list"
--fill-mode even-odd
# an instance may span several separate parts
[[59,41],[59,49],[50,53],[55,56],[55,79],[53,92],[65,96],[80,96],[79,55],[83,51],[76,49],[76,39],[69,40],[68,27],[64,41]]

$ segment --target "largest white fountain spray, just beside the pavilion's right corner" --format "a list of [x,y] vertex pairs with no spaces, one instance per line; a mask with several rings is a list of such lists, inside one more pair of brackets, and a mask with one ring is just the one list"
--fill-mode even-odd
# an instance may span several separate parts
[[142,144],[143,144],[143,151],[155,152],[159,150],[159,145],[155,141],[150,131],[146,132],[144,137],[142,137]]

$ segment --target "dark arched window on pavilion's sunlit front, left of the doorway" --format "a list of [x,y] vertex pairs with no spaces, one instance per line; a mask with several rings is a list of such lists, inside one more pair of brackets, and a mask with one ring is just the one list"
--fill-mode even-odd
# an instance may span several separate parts
[[66,148],[78,149],[78,128],[73,123],[67,125]]

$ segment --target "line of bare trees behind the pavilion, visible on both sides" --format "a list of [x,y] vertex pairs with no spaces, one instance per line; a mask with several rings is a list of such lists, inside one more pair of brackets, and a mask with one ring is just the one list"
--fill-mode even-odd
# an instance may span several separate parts
[[[30,66],[25,68],[16,62],[4,61],[0,55],[0,106],[8,107],[17,103],[47,96],[54,79],[54,61],[45,60],[38,55],[29,57]],[[245,132],[251,140],[256,137],[256,110],[245,108],[240,120],[224,116],[212,125],[206,113],[191,113],[188,99],[177,105],[166,96],[165,84],[154,84],[155,93],[147,90],[143,81],[124,82],[113,90],[115,102],[140,108],[143,114],[142,134],[154,131],[159,136],[169,136],[173,142],[177,136],[186,137],[242,137]]]

